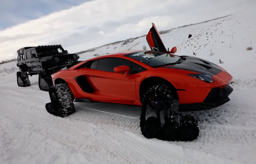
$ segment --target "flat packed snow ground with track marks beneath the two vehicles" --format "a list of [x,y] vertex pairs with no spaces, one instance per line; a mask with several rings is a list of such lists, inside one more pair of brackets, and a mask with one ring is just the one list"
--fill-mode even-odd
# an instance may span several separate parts
[[[48,92],[18,87],[15,72],[0,82],[0,163],[253,163],[256,159],[255,87],[236,80],[231,102],[190,112],[200,134],[192,142],[146,139],[140,108],[75,103],[76,113],[60,118],[45,110]],[[250,83],[251,85],[255,85]],[[239,84],[243,88],[239,88]],[[128,112],[129,111],[129,112]]]

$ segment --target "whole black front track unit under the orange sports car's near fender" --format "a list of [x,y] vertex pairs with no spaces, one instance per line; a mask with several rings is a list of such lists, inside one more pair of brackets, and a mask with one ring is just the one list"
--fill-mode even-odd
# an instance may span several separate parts
[[151,87],[144,96],[140,128],[146,138],[169,141],[191,141],[199,135],[198,121],[191,115],[175,113],[171,91],[161,84]]

